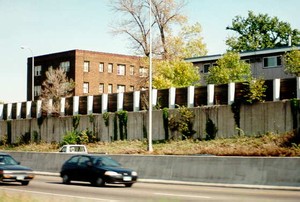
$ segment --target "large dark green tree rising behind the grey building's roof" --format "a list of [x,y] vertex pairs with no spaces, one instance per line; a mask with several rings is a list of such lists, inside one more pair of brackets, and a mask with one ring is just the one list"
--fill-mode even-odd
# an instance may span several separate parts
[[237,52],[287,46],[289,36],[292,45],[300,43],[299,30],[292,29],[289,23],[267,14],[255,15],[253,11],[248,12],[247,18],[236,16],[226,29],[237,34],[226,40],[230,50]]

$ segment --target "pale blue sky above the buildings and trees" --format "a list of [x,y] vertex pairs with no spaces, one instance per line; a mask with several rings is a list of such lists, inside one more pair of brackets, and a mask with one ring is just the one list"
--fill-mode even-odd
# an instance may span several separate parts
[[[113,37],[109,0],[0,0],[0,101],[26,101],[27,58],[82,49],[133,55],[126,37]],[[191,23],[199,22],[208,54],[226,51],[232,19],[248,11],[300,29],[299,0],[188,0]]]

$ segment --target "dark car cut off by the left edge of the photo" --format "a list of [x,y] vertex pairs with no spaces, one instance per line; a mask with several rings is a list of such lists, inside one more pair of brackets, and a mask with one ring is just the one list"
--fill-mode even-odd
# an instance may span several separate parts
[[34,178],[31,168],[21,166],[12,156],[0,153],[0,182],[21,182],[28,185]]

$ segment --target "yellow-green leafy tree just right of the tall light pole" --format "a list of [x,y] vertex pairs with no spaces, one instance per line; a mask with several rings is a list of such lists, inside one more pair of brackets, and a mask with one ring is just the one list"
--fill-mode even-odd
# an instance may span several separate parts
[[155,65],[153,87],[157,89],[186,87],[199,83],[199,71],[182,60],[162,60]]

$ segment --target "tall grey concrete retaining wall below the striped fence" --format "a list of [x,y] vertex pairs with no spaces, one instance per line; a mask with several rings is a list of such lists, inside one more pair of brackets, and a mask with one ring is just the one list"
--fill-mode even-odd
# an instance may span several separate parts
[[[240,109],[240,130],[236,130],[234,114],[231,106],[215,105],[211,107],[190,108],[195,114],[195,138],[205,138],[207,118],[218,128],[217,137],[231,137],[243,131],[246,135],[265,134],[267,132],[283,133],[293,129],[293,117],[289,101],[257,103],[242,105]],[[170,110],[169,113],[174,113]],[[105,126],[102,114],[81,115],[78,130],[93,131],[100,141],[114,139],[118,124],[114,124],[115,114],[111,113],[109,125]],[[30,134],[33,139],[37,135],[43,142],[61,142],[63,136],[72,131],[73,117],[46,117],[44,119],[11,120],[11,142],[17,143],[21,136]],[[165,139],[162,110],[153,111],[152,139]],[[117,125],[117,126],[116,126]],[[128,140],[143,140],[148,132],[148,113],[129,112],[127,122]],[[0,121],[0,140],[9,133],[8,122]],[[171,136],[169,131],[169,137]],[[118,134],[118,139],[120,135]]]

